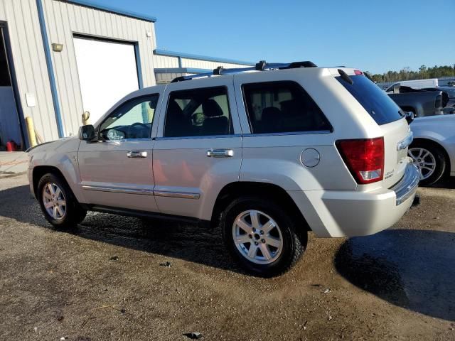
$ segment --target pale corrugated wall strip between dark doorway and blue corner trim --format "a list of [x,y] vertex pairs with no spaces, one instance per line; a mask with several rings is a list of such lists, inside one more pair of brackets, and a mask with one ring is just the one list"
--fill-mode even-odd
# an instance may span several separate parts
[[[8,25],[23,114],[45,141],[58,139],[36,0],[0,0],[0,21]],[[26,92],[36,107],[27,107]]]

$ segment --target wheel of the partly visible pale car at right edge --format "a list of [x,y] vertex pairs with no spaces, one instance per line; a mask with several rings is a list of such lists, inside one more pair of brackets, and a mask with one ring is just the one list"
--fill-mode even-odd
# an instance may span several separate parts
[[441,147],[435,144],[426,141],[414,142],[408,150],[408,155],[419,168],[419,184],[422,186],[436,183],[446,171],[446,154]]

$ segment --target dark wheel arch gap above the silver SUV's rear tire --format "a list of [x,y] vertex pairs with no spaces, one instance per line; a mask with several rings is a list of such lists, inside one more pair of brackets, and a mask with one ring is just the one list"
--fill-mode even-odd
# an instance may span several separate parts
[[259,183],[253,181],[237,181],[235,183],[228,183],[222,188],[222,190],[220,190],[212,210],[211,224],[213,227],[218,225],[220,215],[225,207],[227,207],[236,197],[240,197],[242,195],[273,197],[277,201],[282,202],[283,206],[287,207],[287,210],[291,212],[291,215],[296,217],[301,222],[302,232],[311,230],[304,215],[302,215],[299,207],[297,207],[296,203],[286,190],[279,187],[279,185],[274,185],[272,183]]

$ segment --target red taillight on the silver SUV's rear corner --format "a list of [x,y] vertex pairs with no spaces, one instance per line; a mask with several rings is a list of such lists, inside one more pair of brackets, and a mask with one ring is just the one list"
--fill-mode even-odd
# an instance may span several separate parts
[[350,173],[357,183],[375,183],[384,176],[384,139],[356,139],[336,141]]

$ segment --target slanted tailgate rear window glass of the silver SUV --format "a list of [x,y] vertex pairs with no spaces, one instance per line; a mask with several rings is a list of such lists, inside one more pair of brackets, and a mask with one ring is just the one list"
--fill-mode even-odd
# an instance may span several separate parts
[[346,87],[363,108],[379,125],[397,121],[402,118],[400,107],[375,83],[363,75],[349,76],[353,84],[349,84],[341,77],[335,77]]

